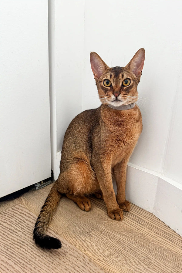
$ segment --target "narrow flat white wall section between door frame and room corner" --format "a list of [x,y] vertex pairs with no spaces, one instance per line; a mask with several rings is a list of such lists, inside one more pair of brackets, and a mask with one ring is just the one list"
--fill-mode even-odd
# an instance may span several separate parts
[[55,1],[57,150],[70,121],[82,108],[84,1]]

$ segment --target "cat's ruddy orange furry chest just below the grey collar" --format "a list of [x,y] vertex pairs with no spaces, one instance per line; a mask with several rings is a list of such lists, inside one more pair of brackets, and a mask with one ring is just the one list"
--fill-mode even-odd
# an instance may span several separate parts
[[[106,108],[106,111],[109,110]],[[106,158],[114,165],[123,157],[130,157],[142,131],[142,116],[135,106],[128,111],[106,112],[102,120],[102,148]]]

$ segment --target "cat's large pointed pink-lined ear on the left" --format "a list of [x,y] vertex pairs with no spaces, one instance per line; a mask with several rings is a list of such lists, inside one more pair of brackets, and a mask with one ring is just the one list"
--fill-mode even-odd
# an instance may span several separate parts
[[104,71],[108,68],[105,62],[100,58],[96,52],[90,53],[90,64],[94,79],[97,81]]

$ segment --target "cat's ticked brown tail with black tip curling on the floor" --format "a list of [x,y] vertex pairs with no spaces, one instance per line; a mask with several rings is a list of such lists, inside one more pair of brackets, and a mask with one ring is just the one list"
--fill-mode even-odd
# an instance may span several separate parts
[[57,190],[57,183],[55,183],[42,206],[33,231],[35,244],[39,245],[41,248],[61,248],[59,239],[46,235],[47,227],[56,211],[60,198],[61,194]]

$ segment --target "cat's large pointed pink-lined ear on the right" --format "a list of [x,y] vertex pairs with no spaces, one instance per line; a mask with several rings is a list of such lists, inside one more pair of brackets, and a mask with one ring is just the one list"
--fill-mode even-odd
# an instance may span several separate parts
[[139,81],[142,75],[144,60],[145,60],[145,49],[140,48],[135,53],[131,61],[125,66],[126,69],[129,69],[131,72],[135,74],[136,78],[138,78]]

